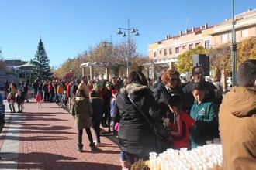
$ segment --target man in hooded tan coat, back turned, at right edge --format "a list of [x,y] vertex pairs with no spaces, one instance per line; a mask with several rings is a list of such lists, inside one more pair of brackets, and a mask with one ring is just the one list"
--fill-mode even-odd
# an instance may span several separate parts
[[256,59],[240,65],[237,84],[220,105],[223,169],[256,169]]

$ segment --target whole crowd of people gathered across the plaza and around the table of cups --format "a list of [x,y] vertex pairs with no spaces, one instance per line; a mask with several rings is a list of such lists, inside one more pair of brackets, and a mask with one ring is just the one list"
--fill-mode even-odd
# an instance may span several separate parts
[[[140,159],[147,160],[152,151],[197,148],[220,137],[224,169],[240,166],[252,169],[256,167],[255,62],[242,63],[237,75],[240,87],[232,88],[225,95],[220,79],[216,77],[215,83],[206,81],[201,66],[193,67],[189,83],[182,83],[178,71],[169,69],[153,84],[140,71],[133,71],[124,79],[95,81],[83,76],[81,80],[35,81],[32,87],[39,108],[43,101],[57,102],[70,109],[78,129],[78,151],[83,151],[83,129],[92,151],[97,151],[101,142],[100,124],[109,133],[118,134],[123,170]],[[25,88],[17,90],[11,83],[9,90],[11,112],[16,111],[14,102],[22,112]],[[236,126],[240,129],[234,131],[232,128]],[[95,132],[95,141],[90,127]],[[168,145],[159,148],[159,140]],[[242,163],[244,158],[247,158],[246,165]]]

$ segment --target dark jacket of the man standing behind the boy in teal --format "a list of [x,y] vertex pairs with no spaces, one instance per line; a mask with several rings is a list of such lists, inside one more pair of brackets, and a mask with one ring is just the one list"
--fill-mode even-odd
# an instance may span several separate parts
[[[209,81],[204,81],[204,87],[206,88],[206,94],[205,94],[205,99],[215,102],[216,97],[215,97],[215,89],[216,87],[213,85],[213,83],[210,83]],[[183,110],[185,110],[187,113],[190,113],[191,107],[194,102],[194,97],[192,94],[192,86],[194,84],[194,81],[192,80],[189,82],[185,87],[182,88],[183,91],[183,98],[184,98],[184,103],[183,103]]]

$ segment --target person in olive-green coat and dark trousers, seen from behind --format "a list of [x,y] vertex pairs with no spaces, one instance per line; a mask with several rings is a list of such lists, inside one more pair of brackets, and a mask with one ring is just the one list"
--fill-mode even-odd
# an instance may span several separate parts
[[78,151],[82,152],[83,144],[82,144],[82,135],[83,129],[87,133],[88,139],[90,141],[91,151],[97,151],[95,144],[93,143],[92,139],[92,132],[90,127],[91,123],[91,115],[92,110],[90,109],[90,101],[89,98],[86,96],[85,91],[78,89],[76,96],[71,100],[71,114],[74,116],[74,125],[78,128]]

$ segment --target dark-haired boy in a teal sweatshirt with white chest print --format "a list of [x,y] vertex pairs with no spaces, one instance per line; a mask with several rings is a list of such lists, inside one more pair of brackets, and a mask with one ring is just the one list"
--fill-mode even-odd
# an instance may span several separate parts
[[191,131],[191,147],[206,145],[206,140],[213,140],[218,136],[218,117],[213,102],[205,100],[205,87],[202,83],[192,85],[195,103],[190,110],[190,116],[195,120],[195,127]]

